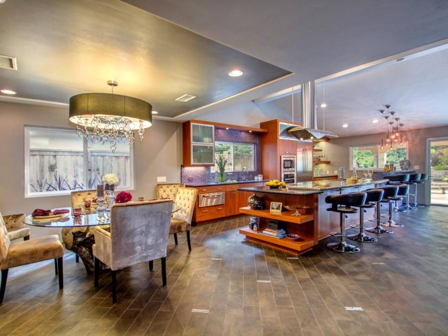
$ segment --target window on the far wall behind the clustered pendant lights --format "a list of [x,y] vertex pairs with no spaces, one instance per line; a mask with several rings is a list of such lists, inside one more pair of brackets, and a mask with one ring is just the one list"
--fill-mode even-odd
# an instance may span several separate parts
[[408,143],[394,144],[381,149],[380,145],[350,146],[350,170],[353,168],[379,168],[386,164],[399,165],[408,158]]

